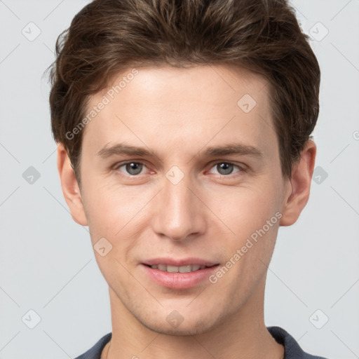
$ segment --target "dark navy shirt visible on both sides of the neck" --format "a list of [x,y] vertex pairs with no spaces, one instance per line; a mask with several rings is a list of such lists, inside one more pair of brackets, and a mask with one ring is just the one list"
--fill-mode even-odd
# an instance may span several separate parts
[[[271,336],[277,343],[285,348],[284,359],[325,359],[321,356],[304,353],[297,341],[281,327],[267,327]],[[104,346],[110,341],[112,333],[104,335],[97,343],[86,353],[83,353],[76,359],[100,359]]]

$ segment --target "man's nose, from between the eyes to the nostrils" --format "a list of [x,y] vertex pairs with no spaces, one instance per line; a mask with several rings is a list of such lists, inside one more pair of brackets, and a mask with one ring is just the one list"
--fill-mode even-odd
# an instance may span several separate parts
[[156,197],[152,225],[158,236],[184,241],[205,232],[205,205],[189,175],[177,184],[164,178],[163,189]]

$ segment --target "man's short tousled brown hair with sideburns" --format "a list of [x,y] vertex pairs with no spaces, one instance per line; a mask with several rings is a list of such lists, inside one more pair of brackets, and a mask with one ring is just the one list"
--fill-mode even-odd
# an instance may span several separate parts
[[[53,137],[81,184],[82,131],[90,95],[129,67],[238,65],[269,81],[280,165],[292,165],[319,112],[320,68],[285,0],[95,0],[56,42],[50,66]],[[239,100],[239,99],[238,99]]]

